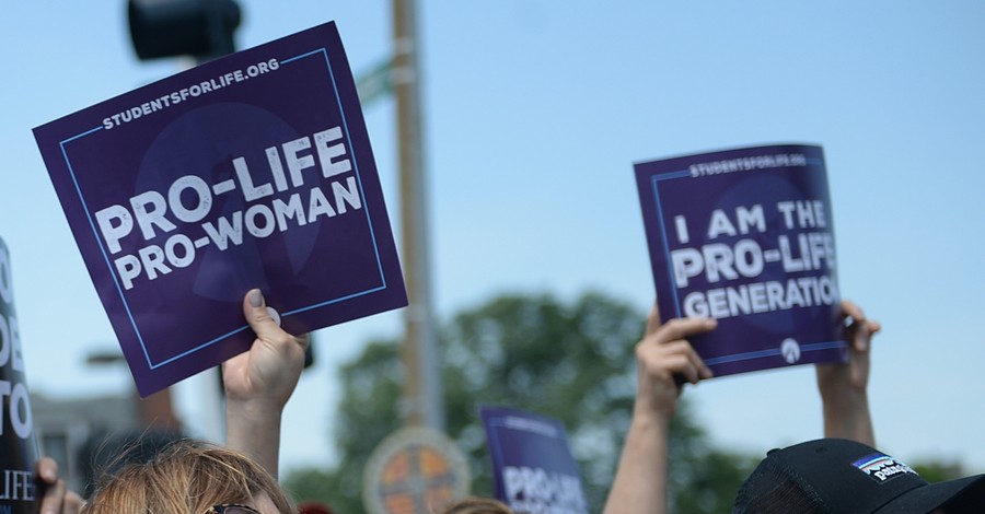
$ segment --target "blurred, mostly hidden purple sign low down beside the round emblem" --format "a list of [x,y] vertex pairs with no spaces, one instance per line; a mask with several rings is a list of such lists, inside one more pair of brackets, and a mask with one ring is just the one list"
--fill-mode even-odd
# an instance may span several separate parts
[[483,408],[496,498],[517,512],[588,513],[564,424],[521,410]]

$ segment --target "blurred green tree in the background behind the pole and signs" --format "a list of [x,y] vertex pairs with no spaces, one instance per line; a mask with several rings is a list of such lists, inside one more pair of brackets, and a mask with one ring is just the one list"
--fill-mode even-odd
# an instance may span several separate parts
[[[559,419],[579,460],[593,512],[614,476],[636,392],[634,347],[645,316],[598,293],[570,304],[541,295],[505,295],[462,312],[440,334],[447,432],[471,459],[473,493],[493,495],[482,406],[512,407]],[[361,512],[362,469],[372,449],[399,428],[403,369],[397,341],[374,341],[340,373],[344,394],[335,424],[340,459],[298,498],[323,499]],[[675,512],[728,511],[751,470],[750,459],[711,448],[687,414],[672,424],[671,491]],[[306,471],[311,476],[311,470]],[[304,490],[302,490],[304,489]],[[325,494],[325,495],[314,494]]]

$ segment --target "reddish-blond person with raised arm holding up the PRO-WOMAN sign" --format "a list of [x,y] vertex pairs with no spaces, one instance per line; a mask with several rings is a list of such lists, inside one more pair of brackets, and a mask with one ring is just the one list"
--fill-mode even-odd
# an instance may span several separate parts
[[[228,447],[184,440],[148,462],[127,464],[101,481],[82,513],[297,512],[277,483],[280,422],[310,341],[277,326],[258,290],[246,294],[243,313],[256,339],[250,351],[223,364]],[[70,506],[59,511],[54,498],[47,505],[53,513],[77,512]]]

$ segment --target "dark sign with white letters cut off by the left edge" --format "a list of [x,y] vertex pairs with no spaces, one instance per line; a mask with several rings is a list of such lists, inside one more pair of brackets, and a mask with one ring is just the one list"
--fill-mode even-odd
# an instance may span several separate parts
[[39,491],[34,478],[37,440],[21,331],[13,303],[10,250],[0,238],[0,512],[34,514]]

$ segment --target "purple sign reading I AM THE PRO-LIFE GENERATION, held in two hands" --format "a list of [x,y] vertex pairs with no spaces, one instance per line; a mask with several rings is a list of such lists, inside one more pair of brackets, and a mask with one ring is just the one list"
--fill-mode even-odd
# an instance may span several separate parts
[[774,145],[635,165],[663,322],[716,375],[845,359],[834,226],[820,147]]

